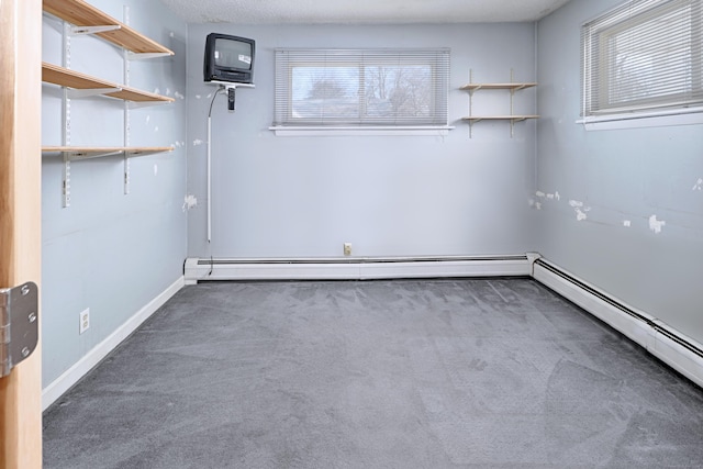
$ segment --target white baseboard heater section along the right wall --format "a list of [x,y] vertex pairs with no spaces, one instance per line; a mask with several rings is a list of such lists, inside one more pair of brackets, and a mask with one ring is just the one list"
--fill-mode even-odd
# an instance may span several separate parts
[[534,261],[532,276],[703,387],[703,345],[696,340],[543,258]]

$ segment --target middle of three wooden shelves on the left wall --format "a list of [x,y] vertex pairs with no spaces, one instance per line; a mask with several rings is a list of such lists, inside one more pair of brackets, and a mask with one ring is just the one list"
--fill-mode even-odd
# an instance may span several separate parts
[[94,78],[76,70],[57,65],[42,63],[42,81],[76,90],[96,90],[97,94],[134,102],[174,102],[174,98],[141,91],[134,88],[116,85],[100,78]]

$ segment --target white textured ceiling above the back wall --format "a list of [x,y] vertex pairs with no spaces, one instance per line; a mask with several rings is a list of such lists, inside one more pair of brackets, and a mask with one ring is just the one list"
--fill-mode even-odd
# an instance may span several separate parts
[[569,0],[161,0],[189,23],[532,22]]

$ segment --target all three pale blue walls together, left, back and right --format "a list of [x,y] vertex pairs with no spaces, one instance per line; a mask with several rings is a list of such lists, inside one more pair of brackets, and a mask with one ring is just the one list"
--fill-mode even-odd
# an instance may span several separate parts
[[[620,0],[572,0],[538,23],[453,25],[191,24],[156,0],[91,0],[176,52],[134,62],[131,85],[176,97],[132,111],[131,144],[171,154],[71,165],[71,206],[62,209],[62,164],[43,158],[44,386],[177,280],[190,257],[522,254],[546,258],[703,342],[703,132],[700,125],[585,132],[579,119],[579,26]],[[213,242],[205,242],[204,37],[257,41],[256,89],[237,112],[213,109]],[[44,21],[44,59],[60,63],[59,23]],[[71,68],[122,81],[122,56],[91,37],[71,41]],[[277,47],[451,47],[446,137],[276,137]],[[536,56],[535,56],[536,55]],[[186,57],[187,63],[186,63]],[[536,65],[538,64],[538,66]],[[537,123],[481,122],[469,138],[476,81],[538,80],[515,111]],[[186,82],[188,83],[186,86]],[[187,90],[187,91],[186,91]],[[44,86],[44,145],[60,143],[60,93]],[[476,94],[475,113],[507,112],[504,91]],[[74,144],[122,145],[122,104],[74,101]],[[188,182],[186,182],[188,174]],[[185,212],[183,198],[198,204]],[[577,219],[572,203],[587,216]],[[539,209],[539,210],[538,210]],[[588,209],[588,210],[587,210]],[[650,230],[655,215],[665,221]],[[631,226],[624,226],[628,221]],[[91,327],[78,335],[78,313]]]

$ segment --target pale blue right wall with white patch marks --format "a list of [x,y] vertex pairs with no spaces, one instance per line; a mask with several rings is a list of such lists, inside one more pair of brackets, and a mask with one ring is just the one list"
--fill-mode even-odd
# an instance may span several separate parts
[[[703,127],[585,132],[574,123],[580,25],[618,3],[572,0],[538,23],[536,191],[560,198],[535,196],[536,247],[703,342]],[[583,203],[585,220],[577,220],[569,201]],[[650,228],[652,215],[665,222],[659,233]]]

